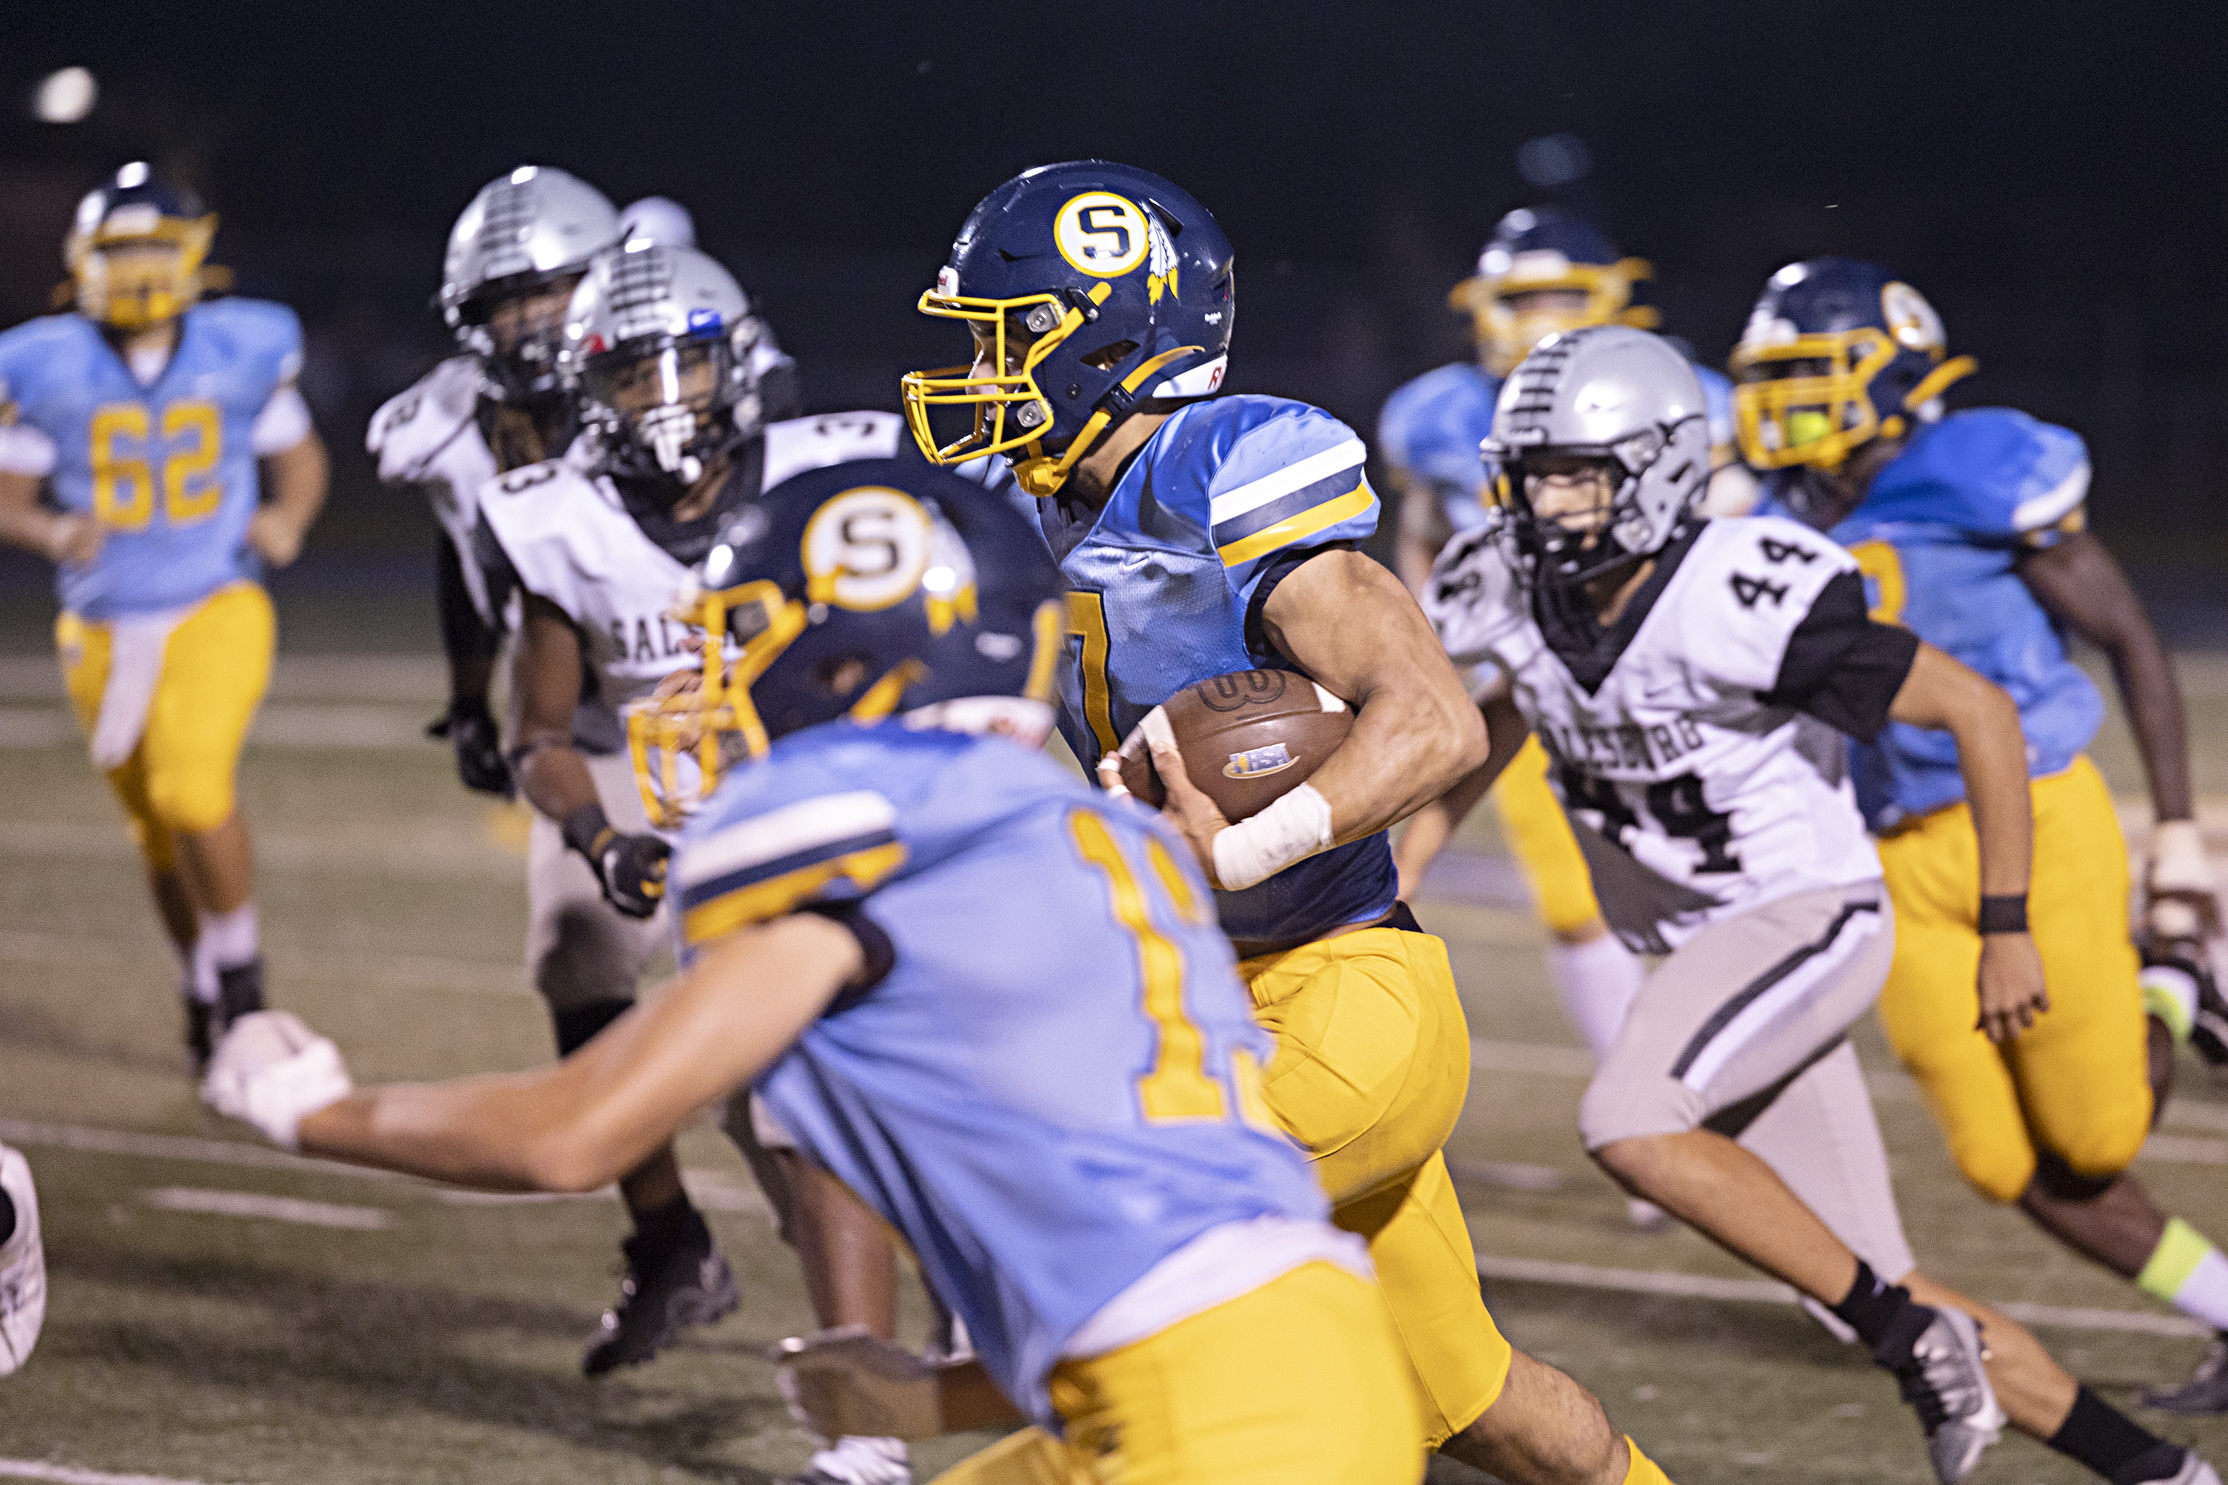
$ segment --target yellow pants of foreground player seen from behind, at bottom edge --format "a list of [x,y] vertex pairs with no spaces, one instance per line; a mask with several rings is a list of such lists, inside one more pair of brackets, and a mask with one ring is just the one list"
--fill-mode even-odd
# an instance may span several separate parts
[[1065,1443],[1023,1429],[936,1485],[1413,1485],[1415,1394],[1372,1285],[1310,1262],[1052,1371]]

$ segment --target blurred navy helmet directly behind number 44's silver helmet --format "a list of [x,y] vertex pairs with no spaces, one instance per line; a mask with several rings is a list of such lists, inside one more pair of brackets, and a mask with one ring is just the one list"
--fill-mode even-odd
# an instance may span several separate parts
[[1633,303],[1633,283],[1651,274],[1593,223],[1562,207],[1517,207],[1493,227],[1477,276],[1457,283],[1448,303],[1470,314],[1486,370],[1506,376],[1551,334],[1653,330],[1655,309]]

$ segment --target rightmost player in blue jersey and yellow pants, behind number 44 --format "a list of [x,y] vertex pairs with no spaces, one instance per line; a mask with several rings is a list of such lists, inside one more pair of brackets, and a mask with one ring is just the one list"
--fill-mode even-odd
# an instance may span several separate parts
[[[1985,924],[1974,919],[1974,822],[1956,750],[1907,726],[1856,746],[1858,806],[1880,837],[1898,922],[1880,995],[1887,1040],[1983,1196],[2019,1202],[2074,1251],[2228,1327],[2228,1260],[2128,1171],[2195,1004],[2139,986],[2128,848],[2085,753],[2103,704],[2068,657],[2065,630],[2112,661],[2150,775],[2150,942],[2203,962],[2199,940],[2219,931],[2219,913],[2181,690],[2126,572],[2088,530],[2081,436],[2010,407],[1943,416],[1943,390],[1974,361],[1947,356],[1941,316],[1918,289],[1849,258],[1773,274],[1733,367],[1740,439],[1767,470],[1771,508],[1849,548],[1872,614],[2003,686],[2027,737],[2030,906],[2050,1011],[2003,1046],[1974,1031],[1970,971]],[[2228,1376],[2215,1369],[2150,1403],[2228,1412]]]

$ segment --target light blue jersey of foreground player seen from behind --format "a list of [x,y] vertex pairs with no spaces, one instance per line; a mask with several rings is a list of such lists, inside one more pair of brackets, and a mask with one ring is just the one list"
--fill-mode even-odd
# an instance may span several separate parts
[[760,1080],[1040,1423],[1067,1338],[1192,1238],[1321,1220],[1270,1037],[1183,844],[1038,750],[829,724],[722,781],[673,859],[686,960],[858,904],[896,951]]

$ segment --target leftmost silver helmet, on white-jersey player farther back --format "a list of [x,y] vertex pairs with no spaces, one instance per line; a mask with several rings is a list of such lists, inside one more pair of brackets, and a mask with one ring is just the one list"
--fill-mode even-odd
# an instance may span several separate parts
[[[479,356],[495,392],[546,396],[559,387],[557,345],[564,296],[604,247],[619,240],[619,214],[577,176],[546,165],[519,165],[479,187],[448,234],[441,260],[441,318],[457,343]],[[555,303],[512,305],[537,289]],[[515,323],[501,323],[515,321]]]

